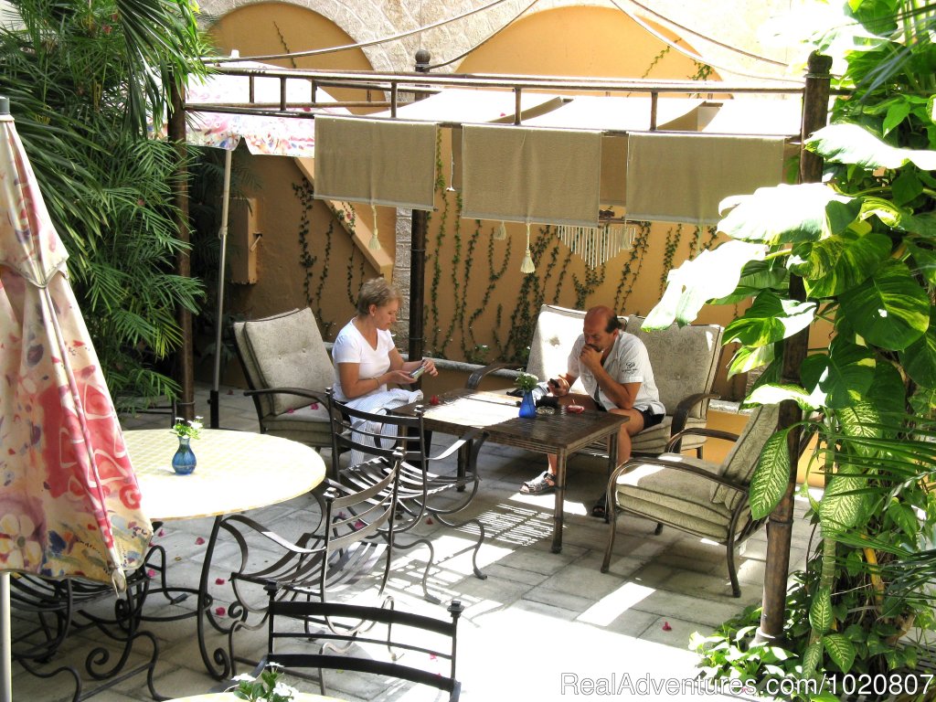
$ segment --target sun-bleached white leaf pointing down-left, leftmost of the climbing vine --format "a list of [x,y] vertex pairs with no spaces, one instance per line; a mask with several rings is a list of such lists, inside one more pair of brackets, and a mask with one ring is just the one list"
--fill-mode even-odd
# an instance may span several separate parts
[[674,319],[680,325],[691,324],[706,301],[724,298],[737,287],[748,261],[766,254],[763,244],[725,241],[669,271],[663,299],[647,315],[643,329],[665,329]]

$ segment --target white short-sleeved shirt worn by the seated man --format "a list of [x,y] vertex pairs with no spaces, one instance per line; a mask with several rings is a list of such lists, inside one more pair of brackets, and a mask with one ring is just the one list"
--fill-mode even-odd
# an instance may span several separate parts
[[[594,391],[598,389],[598,381],[587,367],[578,362],[578,356],[581,354],[584,345],[585,337],[579,334],[576,343],[572,346],[572,352],[569,354],[568,373],[580,377],[585,390],[594,398]],[[650,355],[647,353],[647,347],[634,334],[628,334],[626,331],[618,334],[618,338],[611,347],[611,352],[607,355],[605,362],[602,363],[602,367],[608,375],[619,383],[640,384],[634,400],[635,409],[649,409],[654,415],[666,414],[666,408],[663,402],[660,402],[660,391],[656,388],[656,381],[653,380],[653,369],[650,365]],[[600,391],[598,397],[605,409],[618,406],[607,397],[604,390]]]

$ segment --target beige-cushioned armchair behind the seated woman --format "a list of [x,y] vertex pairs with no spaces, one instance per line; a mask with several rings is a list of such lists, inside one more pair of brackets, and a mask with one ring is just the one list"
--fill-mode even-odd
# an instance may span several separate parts
[[326,388],[334,368],[309,308],[234,324],[260,431],[308,446],[331,446]]

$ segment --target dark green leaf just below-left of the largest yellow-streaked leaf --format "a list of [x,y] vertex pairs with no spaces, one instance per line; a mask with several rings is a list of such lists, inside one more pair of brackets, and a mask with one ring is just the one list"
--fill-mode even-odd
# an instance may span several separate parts
[[803,387],[818,388],[827,407],[847,407],[860,400],[874,380],[874,355],[864,346],[836,337],[828,354],[813,354],[800,366]]

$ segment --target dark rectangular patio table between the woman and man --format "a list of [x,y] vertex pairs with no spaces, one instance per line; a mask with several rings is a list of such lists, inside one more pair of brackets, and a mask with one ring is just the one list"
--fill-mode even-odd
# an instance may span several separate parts
[[[618,430],[628,417],[585,410],[580,414],[557,408],[553,414],[535,418],[519,417],[519,399],[494,392],[457,388],[438,396],[440,402],[413,402],[393,410],[394,414],[416,417],[422,413],[428,431],[462,436],[474,428],[483,429],[481,441],[525,448],[556,455],[556,503],[552,522],[552,552],[563,549],[563,505],[565,466],[569,455],[593,442],[607,439],[608,475],[616,467]],[[463,470],[460,462],[459,469]]]

